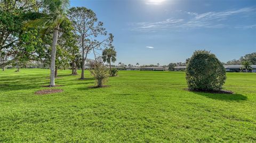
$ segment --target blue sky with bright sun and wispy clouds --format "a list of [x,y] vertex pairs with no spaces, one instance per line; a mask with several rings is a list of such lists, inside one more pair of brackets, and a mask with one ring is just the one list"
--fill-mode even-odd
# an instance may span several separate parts
[[198,49],[221,62],[256,52],[256,1],[71,0],[70,6],[93,10],[113,33],[116,65],[185,62]]

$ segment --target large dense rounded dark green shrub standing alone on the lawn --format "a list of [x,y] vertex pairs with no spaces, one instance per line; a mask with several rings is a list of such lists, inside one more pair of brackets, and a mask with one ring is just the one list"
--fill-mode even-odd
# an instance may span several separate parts
[[195,51],[187,64],[189,90],[220,90],[226,80],[226,70],[218,58],[208,51]]

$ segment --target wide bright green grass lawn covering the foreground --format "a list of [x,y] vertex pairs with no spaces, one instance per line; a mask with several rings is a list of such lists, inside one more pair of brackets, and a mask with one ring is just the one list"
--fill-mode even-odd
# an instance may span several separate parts
[[119,71],[105,88],[59,71],[0,71],[0,142],[256,142],[256,73],[227,73],[233,95],[185,90],[184,72]]

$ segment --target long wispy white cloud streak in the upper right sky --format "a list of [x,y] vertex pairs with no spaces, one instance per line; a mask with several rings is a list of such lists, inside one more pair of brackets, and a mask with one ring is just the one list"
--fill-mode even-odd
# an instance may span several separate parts
[[[256,14],[256,9],[251,7],[245,7],[238,10],[229,10],[221,12],[206,12],[198,14],[195,12],[183,12],[189,15],[187,19],[174,19],[169,18],[164,21],[159,22],[139,22],[133,23],[133,31],[158,31],[158,30],[168,30],[174,28],[182,29],[195,29],[195,28],[225,28],[229,27],[226,23],[222,22],[228,19],[230,16],[235,14]],[[246,27],[246,26],[245,26]],[[251,26],[248,26],[251,27]],[[254,26],[252,26],[253,28]]]

